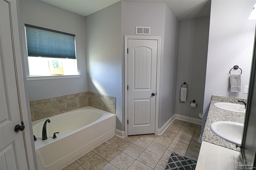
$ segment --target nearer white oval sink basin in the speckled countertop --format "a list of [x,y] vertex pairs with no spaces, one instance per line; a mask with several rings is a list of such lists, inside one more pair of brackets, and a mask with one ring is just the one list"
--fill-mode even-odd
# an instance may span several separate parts
[[232,121],[216,121],[211,124],[215,135],[231,143],[241,145],[244,124]]

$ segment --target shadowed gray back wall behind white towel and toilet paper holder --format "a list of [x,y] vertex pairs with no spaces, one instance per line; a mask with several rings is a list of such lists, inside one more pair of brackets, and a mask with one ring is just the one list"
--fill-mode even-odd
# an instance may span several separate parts
[[[196,119],[203,111],[209,23],[210,16],[180,21],[175,113]],[[188,84],[187,100],[181,102],[184,82]],[[190,107],[192,100],[196,100],[196,108]]]

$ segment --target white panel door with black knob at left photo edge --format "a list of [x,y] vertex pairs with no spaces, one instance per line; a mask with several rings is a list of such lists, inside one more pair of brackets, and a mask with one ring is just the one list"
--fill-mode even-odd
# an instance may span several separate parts
[[27,170],[20,106],[14,67],[10,3],[0,0],[0,169]]

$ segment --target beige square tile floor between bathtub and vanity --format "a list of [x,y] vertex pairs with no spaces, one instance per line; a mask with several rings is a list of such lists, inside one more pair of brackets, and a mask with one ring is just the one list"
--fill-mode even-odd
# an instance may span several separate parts
[[114,136],[62,170],[164,170],[172,152],[197,160],[200,132],[175,119],[162,135]]

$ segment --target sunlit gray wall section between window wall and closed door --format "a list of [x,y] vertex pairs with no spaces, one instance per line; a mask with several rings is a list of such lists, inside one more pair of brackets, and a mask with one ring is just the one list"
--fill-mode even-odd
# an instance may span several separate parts
[[86,16],[89,91],[116,97],[116,129],[122,130],[121,2]]

